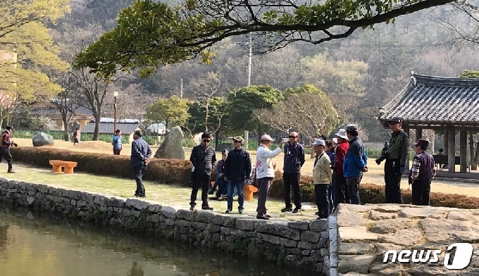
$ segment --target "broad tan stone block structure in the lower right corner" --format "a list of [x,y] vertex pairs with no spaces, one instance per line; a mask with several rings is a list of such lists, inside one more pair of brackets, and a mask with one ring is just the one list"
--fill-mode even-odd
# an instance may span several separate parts
[[[458,208],[340,205],[330,217],[330,227],[337,221],[337,243],[330,244],[330,275],[479,275],[478,215],[479,210]],[[473,245],[471,263],[464,270],[444,266],[447,249],[454,243]],[[392,254],[385,262],[385,253],[390,250],[397,252],[397,258],[402,250],[416,250],[416,258],[421,250],[423,256],[427,251],[441,253],[437,263],[413,261],[412,255],[403,255],[406,263],[392,263]],[[465,250],[461,253],[452,252],[451,259],[467,258]]]

